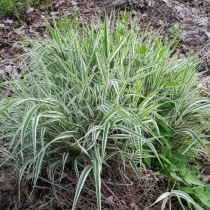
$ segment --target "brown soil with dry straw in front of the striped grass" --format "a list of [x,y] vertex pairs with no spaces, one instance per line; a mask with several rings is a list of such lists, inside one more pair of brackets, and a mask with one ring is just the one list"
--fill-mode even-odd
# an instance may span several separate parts
[[[54,189],[49,180],[40,180],[31,194],[29,183],[22,184],[21,202],[17,200],[15,173],[1,168],[0,209],[59,210],[71,209],[77,183],[75,174],[65,173],[62,181],[55,180]],[[9,177],[9,179],[8,179]],[[152,171],[142,172],[141,178],[129,167],[112,163],[102,174],[102,209],[104,210],[156,210],[149,207],[166,190],[164,177]],[[93,180],[89,178],[81,193],[78,210],[95,210],[96,197]]]

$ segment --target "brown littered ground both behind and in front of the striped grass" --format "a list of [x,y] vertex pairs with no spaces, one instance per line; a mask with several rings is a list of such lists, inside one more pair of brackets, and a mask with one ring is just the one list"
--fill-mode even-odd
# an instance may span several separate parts
[[[24,20],[9,18],[0,20],[0,80],[9,74],[18,73],[23,65],[23,35],[47,36],[45,21],[53,17],[71,17],[80,13],[84,23],[97,20],[112,10],[130,11],[140,27],[161,28],[165,39],[179,32],[180,53],[198,53],[203,59],[200,71],[201,88],[210,89],[210,1],[209,0],[53,0],[51,4],[38,8],[28,8]],[[175,30],[175,31],[174,31]],[[117,167],[116,167],[117,166]],[[143,178],[130,169],[124,171],[114,165],[110,174],[103,176],[103,209],[149,209],[148,206],[165,190],[164,178],[149,171]],[[123,171],[123,173],[122,173]],[[116,174],[119,174],[116,177]],[[115,179],[113,179],[115,177]],[[128,177],[131,177],[130,180]],[[10,167],[0,168],[0,209],[70,209],[76,177],[66,173],[62,188],[56,188],[56,196],[44,182],[42,186],[29,194],[30,186],[23,184],[22,202],[17,201],[15,172]],[[79,209],[94,209],[95,194],[91,181],[84,190]],[[60,206],[57,205],[58,201]],[[150,209],[159,209],[153,206]]]

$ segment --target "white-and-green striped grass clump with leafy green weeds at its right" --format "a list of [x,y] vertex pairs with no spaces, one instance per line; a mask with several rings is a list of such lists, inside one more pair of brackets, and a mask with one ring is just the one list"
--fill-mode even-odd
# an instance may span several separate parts
[[46,173],[53,182],[58,169],[73,170],[72,209],[88,176],[102,208],[101,173],[112,160],[137,176],[147,168],[166,175],[171,191],[157,200],[163,209],[171,196],[183,209],[208,209],[210,190],[197,178],[210,129],[199,60],[179,58],[175,40],[163,43],[128,19],[87,27],[64,18],[49,38],[27,39],[30,65],[1,84],[13,93],[0,102],[1,139],[10,141],[1,151],[19,183],[30,174],[36,186]]

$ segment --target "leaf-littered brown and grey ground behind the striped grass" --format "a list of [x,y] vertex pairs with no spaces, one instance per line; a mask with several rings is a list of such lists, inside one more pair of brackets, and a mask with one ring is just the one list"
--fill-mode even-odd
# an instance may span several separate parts
[[21,35],[46,36],[46,20],[79,12],[81,20],[89,22],[114,9],[131,11],[141,27],[150,24],[162,28],[165,37],[173,35],[173,29],[179,30],[183,53],[199,53],[204,60],[201,70],[209,73],[209,0],[52,0],[51,4],[28,8],[22,21],[0,20],[0,74],[17,71],[20,64],[15,58],[22,52]]

